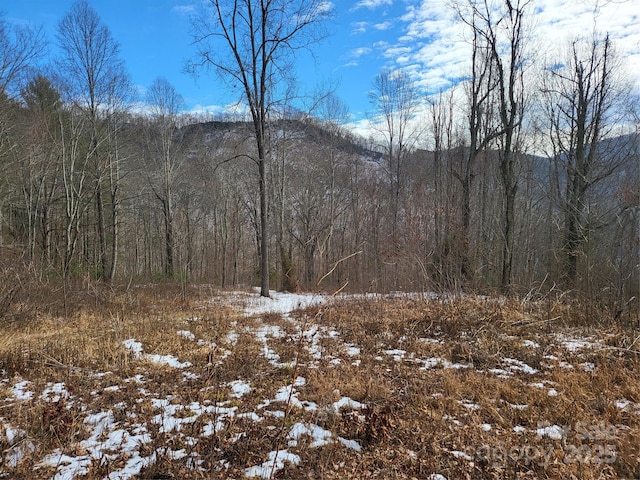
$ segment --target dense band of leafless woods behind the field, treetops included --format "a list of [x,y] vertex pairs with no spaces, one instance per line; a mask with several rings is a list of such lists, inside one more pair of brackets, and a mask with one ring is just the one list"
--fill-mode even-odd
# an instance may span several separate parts
[[555,289],[624,308],[640,288],[637,101],[606,34],[534,59],[529,8],[460,8],[469,73],[449,91],[372,79],[367,139],[330,93],[309,112],[267,95],[253,118],[201,118],[159,78],[133,109],[83,1],[46,67],[41,32],[0,20],[3,282],[20,265],[261,285],[266,265],[286,290]]

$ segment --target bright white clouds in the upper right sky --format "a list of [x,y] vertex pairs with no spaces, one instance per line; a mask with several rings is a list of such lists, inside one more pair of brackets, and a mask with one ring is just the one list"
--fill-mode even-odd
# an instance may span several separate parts
[[[589,36],[594,29],[609,32],[627,72],[639,84],[639,13],[635,0],[537,0],[535,13],[527,19],[530,46],[541,57],[538,60],[543,60],[557,56],[562,51],[559,46]],[[381,47],[388,61],[411,65],[415,80],[428,91],[451,85],[465,74],[471,58],[468,32],[448,2],[418,0],[407,6],[400,20],[404,23],[402,36]]]

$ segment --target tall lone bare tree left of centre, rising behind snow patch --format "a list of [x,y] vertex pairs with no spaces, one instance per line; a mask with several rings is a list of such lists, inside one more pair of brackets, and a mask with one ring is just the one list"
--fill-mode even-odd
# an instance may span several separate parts
[[241,90],[251,114],[260,192],[260,294],[268,297],[268,117],[290,75],[294,52],[319,40],[330,3],[208,0],[207,5],[194,24],[198,51],[191,67],[215,68]]

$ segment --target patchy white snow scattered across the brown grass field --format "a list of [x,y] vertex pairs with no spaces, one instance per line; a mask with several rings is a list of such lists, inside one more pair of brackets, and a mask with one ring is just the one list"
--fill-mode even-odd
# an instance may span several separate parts
[[[72,480],[90,474],[95,476],[96,471],[104,471],[103,478],[107,480],[125,480],[135,478],[143,468],[153,465],[160,458],[187,459],[193,469],[204,471],[198,444],[238,422],[263,424],[267,426],[267,430],[272,431],[284,428],[277,448],[266,452],[262,462],[241,467],[245,477],[272,478],[286,465],[299,464],[300,448],[312,450],[333,445],[334,448],[343,448],[354,453],[362,452],[363,445],[357,438],[337,435],[312,419],[345,413],[362,416],[367,405],[339,392],[335,392],[336,397],[333,401],[324,404],[306,399],[305,392],[310,387],[308,378],[302,369],[298,368],[295,359],[282,360],[281,352],[274,346],[277,341],[287,338],[300,343],[310,359],[304,365],[304,371],[307,372],[319,368],[320,365],[330,368],[331,365],[342,362],[358,366],[362,360],[363,349],[357,341],[342,340],[342,332],[316,323],[313,318],[301,323],[290,317],[296,309],[329,304],[334,299],[322,295],[276,292],[272,294],[272,298],[261,298],[246,292],[227,293],[221,298],[228,305],[243,312],[246,318],[251,318],[253,323],[244,325],[240,321],[234,322],[235,327],[226,333],[223,345],[216,346],[217,357],[213,360],[221,362],[232,353],[242,335],[250,333],[259,344],[259,355],[263,359],[275,369],[292,372],[290,381],[274,385],[273,395],[247,403],[253,405],[251,409],[245,406],[244,399],[259,396],[261,391],[256,390],[252,381],[246,378],[236,378],[224,385],[202,386],[201,392],[213,389],[216,394],[213,398],[196,400],[193,395],[182,393],[193,385],[203,384],[202,368],[195,368],[192,362],[182,360],[178,355],[145,353],[146,346],[139,338],[127,338],[122,342],[132,361],[140,365],[167,369],[167,378],[174,379],[173,386],[158,389],[150,380],[151,374],[138,373],[122,382],[92,391],[90,397],[96,399],[109,395],[120,399],[116,403],[96,402],[101,405],[100,409],[96,409],[87,402],[86,395],[81,396],[78,392],[70,391],[64,382],[42,385],[30,379],[2,378],[0,385],[8,392],[0,402],[3,409],[18,404],[33,405],[34,402],[55,405],[73,411],[73,428],[85,432],[83,440],[76,444],[64,445],[43,455],[36,471],[41,469],[52,472],[53,480]],[[342,298],[345,299],[348,300],[348,297]],[[220,301],[220,298],[216,301]],[[282,315],[285,324],[262,321],[268,314]],[[181,341],[207,344],[209,339],[199,338],[195,330],[180,329],[175,331],[175,335]],[[442,343],[439,338],[424,337],[419,340],[425,345],[438,346]],[[325,341],[337,343],[340,347],[337,351],[334,349],[327,352],[323,346]],[[524,339],[522,346],[535,353],[541,348],[538,342],[539,339]],[[563,395],[564,389],[563,385],[551,379],[554,370],[582,369],[587,372],[597,369],[591,362],[567,362],[558,352],[566,352],[571,358],[575,358],[576,353],[583,350],[606,348],[599,339],[573,337],[567,334],[556,335],[554,342],[556,348],[553,353],[544,354],[544,371],[540,370],[540,366],[533,367],[522,359],[507,355],[501,358],[499,366],[483,370],[470,361],[451,361],[443,356],[420,357],[414,352],[408,352],[403,345],[388,345],[388,348],[380,349],[375,359],[391,364],[415,365],[416,369],[422,371],[473,369],[497,378],[509,379],[518,376],[528,382],[531,388],[542,390],[547,396],[553,397]],[[549,350],[548,345],[546,348]],[[302,373],[298,373],[298,370]],[[94,372],[93,375],[110,378],[110,372]],[[531,380],[528,381],[528,378]],[[437,394],[434,394],[434,398],[435,396]],[[189,397],[191,398],[188,399]],[[640,415],[640,403],[633,399],[621,397],[613,401],[619,410],[630,415]],[[474,412],[481,408],[481,405],[471,399],[460,399],[458,404],[463,407],[463,411]],[[511,404],[511,408],[513,411],[523,411],[528,409],[529,405]],[[2,411],[0,410],[0,415]],[[148,412],[149,416],[144,418],[141,415],[143,411]],[[306,418],[309,420],[284,422],[283,419],[287,418],[291,411],[307,412],[305,415],[308,414]],[[455,417],[450,417],[449,420],[452,425],[460,424]],[[483,423],[480,427],[484,432],[491,432],[497,426]],[[566,438],[567,431],[564,428],[554,423],[553,419],[541,419],[541,423],[535,428],[519,424],[512,426],[514,432],[529,432],[539,438],[547,437],[553,440]],[[245,436],[246,432],[239,431],[231,441],[241,442]],[[2,437],[6,448],[1,455],[6,468],[16,467],[39,448],[27,432],[16,426],[10,417],[0,416],[0,438]],[[179,438],[179,441],[162,444],[158,437]],[[456,459],[473,461],[465,452],[451,450],[450,453]],[[223,462],[217,468],[223,471],[230,468],[230,465]],[[4,477],[0,475],[0,478]],[[439,472],[433,472],[427,478],[446,479]]]

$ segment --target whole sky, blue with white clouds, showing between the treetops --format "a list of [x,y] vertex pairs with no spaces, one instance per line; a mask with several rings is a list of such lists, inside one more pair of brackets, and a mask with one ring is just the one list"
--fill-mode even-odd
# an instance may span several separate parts
[[[144,92],[166,77],[194,111],[219,112],[237,98],[213,75],[183,73],[193,56],[190,12],[196,0],[89,0],[113,37],[133,83]],[[0,11],[10,23],[43,26],[55,54],[55,31],[73,0],[13,0]],[[468,65],[465,33],[444,0],[333,0],[331,36],[314,48],[316,61],[300,58],[299,89],[338,83],[354,125],[366,123],[368,91],[383,68],[405,68],[426,91],[446,88]],[[594,25],[616,42],[632,82],[640,84],[640,0],[533,0],[532,42],[537,55],[588,34]],[[364,127],[363,127],[364,128]]]

